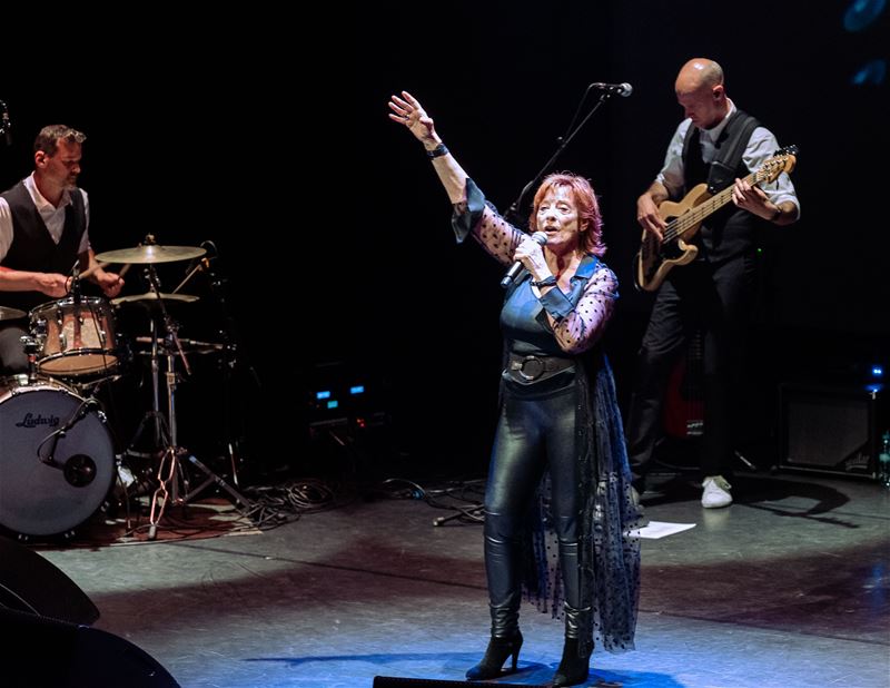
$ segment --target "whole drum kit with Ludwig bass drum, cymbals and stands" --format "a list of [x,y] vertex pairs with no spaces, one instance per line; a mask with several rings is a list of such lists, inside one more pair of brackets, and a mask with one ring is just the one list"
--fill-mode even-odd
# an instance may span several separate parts
[[[178,443],[176,387],[177,362],[190,373],[186,351],[221,351],[227,345],[180,340],[179,324],[168,304],[189,304],[198,296],[179,293],[201,267],[207,249],[191,246],[161,246],[146,237],[135,248],[98,254],[100,265],[144,266],[149,289],[120,296],[110,302],[80,294],[80,278],[72,281],[65,298],[32,308],[30,313],[0,306],[0,325],[27,318],[28,334],[21,337],[28,355],[27,374],[0,379],[0,530],[21,540],[70,538],[77,527],[107,502],[117,479],[127,473],[121,462],[136,446],[147,427],[151,429],[148,456],[152,482],[148,538],[155,539],[168,504],[186,504],[207,486],[216,484],[237,505],[250,508],[244,495],[220,475]],[[170,293],[160,288],[155,266],[161,263],[200,259]],[[149,309],[149,336],[137,336],[148,344],[145,352],[151,371],[151,409],[146,412],[127,450],[116,454],[103,403],[97,390],[122,376],[126,347],[117,333],[117,308],[134,305]],[[165,363],[166,409],[161,410],[160,374]],[[189,471],[181,459],[200,471],[202,482],[190,485]],[[237,484],[237,474],[233,470]]]

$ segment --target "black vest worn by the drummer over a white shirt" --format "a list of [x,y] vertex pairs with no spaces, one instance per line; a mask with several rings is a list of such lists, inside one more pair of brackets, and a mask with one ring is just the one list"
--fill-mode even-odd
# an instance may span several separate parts
[[[65,209],[65,227],[58,245],[52,240],[23,183],[19,181],[2,194],[12,216],[12,244],[0,265],[36,273],[71,273],[80,239],[87,228],[87,212],[83,196],[76,190],[70,194],[71,204]],[[2,299],[4,306],[22,311],[52,301],[41,292],[4,292]]]

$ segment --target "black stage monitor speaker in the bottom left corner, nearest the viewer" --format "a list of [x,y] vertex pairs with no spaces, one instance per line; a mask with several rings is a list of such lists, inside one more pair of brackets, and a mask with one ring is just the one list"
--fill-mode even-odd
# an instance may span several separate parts
[[0,609],[3,688],[180,688],[129,640],[88,626]]

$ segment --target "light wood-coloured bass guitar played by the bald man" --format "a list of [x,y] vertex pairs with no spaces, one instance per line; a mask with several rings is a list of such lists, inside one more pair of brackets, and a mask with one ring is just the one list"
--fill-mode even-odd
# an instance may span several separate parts
[[[790,173],[797,164],[798,147],[787,146],[764,160],[756,171],[744,179],[752,186],[774,181],[783,171]],[[732,200],[732,185],[715,196],[708,193],[708,185],[696,185],[683,200],[665,200],[659,206],[659,215],[666,223],[663,239],[643,230],[640,250],[634,258],[634,283],[644,292],[654,292],[664,282],[668,272],[675,265],[685,265],[695,259],[699,247],[689,242],[695,236],[702,222]]]

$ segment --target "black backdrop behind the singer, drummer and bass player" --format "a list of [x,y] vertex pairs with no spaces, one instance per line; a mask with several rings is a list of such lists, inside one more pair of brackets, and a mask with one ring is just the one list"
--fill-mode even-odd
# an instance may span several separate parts
[[[238,370],[226,383],[218,356],[191,356],[185,441],[209,442],[228,416],[249,461],[299,470],[318,451],[309,423],[332,417],[312,394],[356,381],[367,401],[340,409],[385,412],[382,462],[484,471],[503,268],[455,245],[419,144],[386,117],[402,89],[504,210],[554,153],[590,82],[633,85],[554,166],[601,196],[606,262],[622,283],[606,347],[626,403],[651,303],[632,286],[635,198],[682,118],[676,71],[696,56],[720,61],[736,105],[800,148],[802,219],[762,247],[745,441],[773,459],[781,382],[859,385],[888,364],[887,90],[851,83],[866,62],[887,60],[886,14],[848,32],[843,2],[374,3],[320,8],[314,20],[260,7],[182,11],[105,17],[103,30],[73,17],[16,24],[0,78],[14,127],[0,181],[30,171],[41,126],[65,122],[88,135],[80,185],[97,253],[149,233],[161,245],[215,243],[226,312],[199,275],[182,291],[202,301],[175,315],[184,336],[212,340],[228,314]],[[166,291],[187,267],[158,266]],[[126,293],[145,291],[138,273]],[[144,315],[119,317],[126,334],[146,334]],[[144,363],[137,356],[132,386]]]

